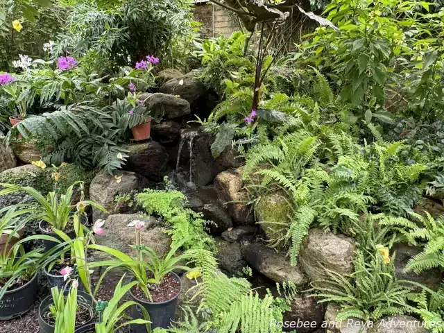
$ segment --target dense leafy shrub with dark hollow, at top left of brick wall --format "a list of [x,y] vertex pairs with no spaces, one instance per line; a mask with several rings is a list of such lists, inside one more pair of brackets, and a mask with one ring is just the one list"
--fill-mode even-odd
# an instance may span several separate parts
[[111,64],[128,65],[128,58],[134,64],[147,54],[164,58],[173,40],[193,29],[189,0],[131,0],[112,9],[78,3],[72,10],[66,31],[58,35],[56,56],[92,50]]

